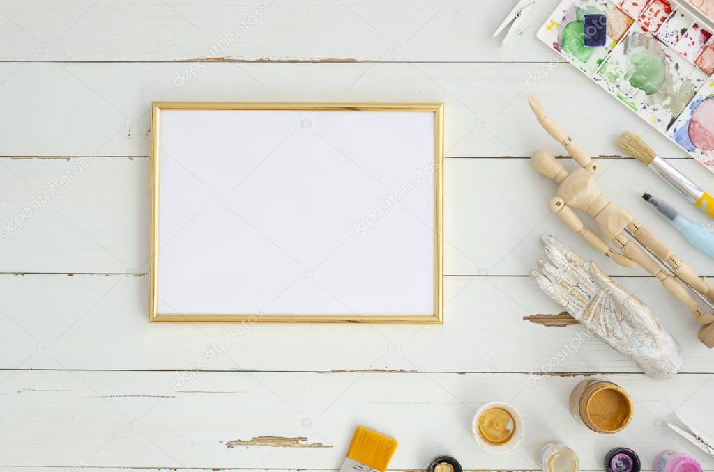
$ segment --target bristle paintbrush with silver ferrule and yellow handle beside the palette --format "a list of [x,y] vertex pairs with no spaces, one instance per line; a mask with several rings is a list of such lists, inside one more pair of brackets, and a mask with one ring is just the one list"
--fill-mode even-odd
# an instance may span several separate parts
[[673,168],[666,160],[660,158],[642,138],[635,135],[635,133],[625,131],[618,138],[617,144],[618,148],[654,170],[669,185],[672,185],[679,193],[684,195],[687,200],[694,203],[700,210],[714,219],[714,197],[686,178],[679,170]]

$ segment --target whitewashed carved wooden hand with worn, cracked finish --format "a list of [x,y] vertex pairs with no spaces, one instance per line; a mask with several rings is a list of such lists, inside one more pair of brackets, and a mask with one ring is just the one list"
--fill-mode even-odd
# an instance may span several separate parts
[[679,345],[650,309],[552,236],[544,236],[550,262],[538,261],[531,278],[590,334],[630,357],[650,377],[667,379],[682,366]]

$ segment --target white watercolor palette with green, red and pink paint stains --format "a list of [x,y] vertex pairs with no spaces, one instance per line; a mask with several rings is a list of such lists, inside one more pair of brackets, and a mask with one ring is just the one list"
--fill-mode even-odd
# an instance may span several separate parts
[[714,172],[714,35],[690,11],[563,0],[538,38]]

